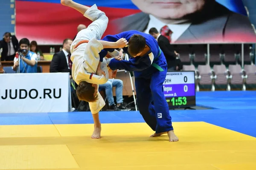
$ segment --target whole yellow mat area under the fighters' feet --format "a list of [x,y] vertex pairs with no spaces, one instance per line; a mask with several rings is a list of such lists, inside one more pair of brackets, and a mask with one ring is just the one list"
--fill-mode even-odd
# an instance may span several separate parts
[[174,122],[179,142],[145,123],[0,126],[0,170],[256,170],[256,138],[205,122]]

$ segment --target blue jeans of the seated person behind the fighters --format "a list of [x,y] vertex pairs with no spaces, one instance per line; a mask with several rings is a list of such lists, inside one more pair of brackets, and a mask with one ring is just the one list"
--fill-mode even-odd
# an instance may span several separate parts
[[120,79],[109,79],[108,82],[106,82],[103,85],[99,85],[99,91],[102,91],[105,89],[106,96],[108,99],[108,105],[114,105],[114,97],[113,97],[113,87],[116,87],[116,103],[122,103],[123,98],[122,98],[122,88],[123,88],[123,83],[122,80]]

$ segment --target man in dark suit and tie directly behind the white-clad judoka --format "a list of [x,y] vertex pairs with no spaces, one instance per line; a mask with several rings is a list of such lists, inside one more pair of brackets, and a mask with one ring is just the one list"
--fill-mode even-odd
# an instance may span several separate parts
[[67,38],[63,41],[61,51],[55,53],[50,64],[50,73],[69,72],[71,78],[72,62],[70,60],[70,45],[72,40]]

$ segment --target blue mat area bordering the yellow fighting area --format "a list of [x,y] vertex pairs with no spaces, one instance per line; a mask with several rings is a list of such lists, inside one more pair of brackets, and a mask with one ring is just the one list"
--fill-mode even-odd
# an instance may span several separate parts
[[[207,122],[256,137],[256,91],[197,92],[197,105],[216,109],[170,111],[173,122]],[[102,123],[144,122],[139,111],[100,112]],[[90,112],[1,113],[0,125],[92,124]]]

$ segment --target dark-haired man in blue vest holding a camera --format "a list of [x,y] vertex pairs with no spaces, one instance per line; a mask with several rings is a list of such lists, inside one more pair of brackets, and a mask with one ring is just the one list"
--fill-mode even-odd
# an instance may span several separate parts
[[19,45],[20,49],[16,52],[13,70],[16,73],[37,73],[37,54],[29,51],[29,40],[23,38]]

